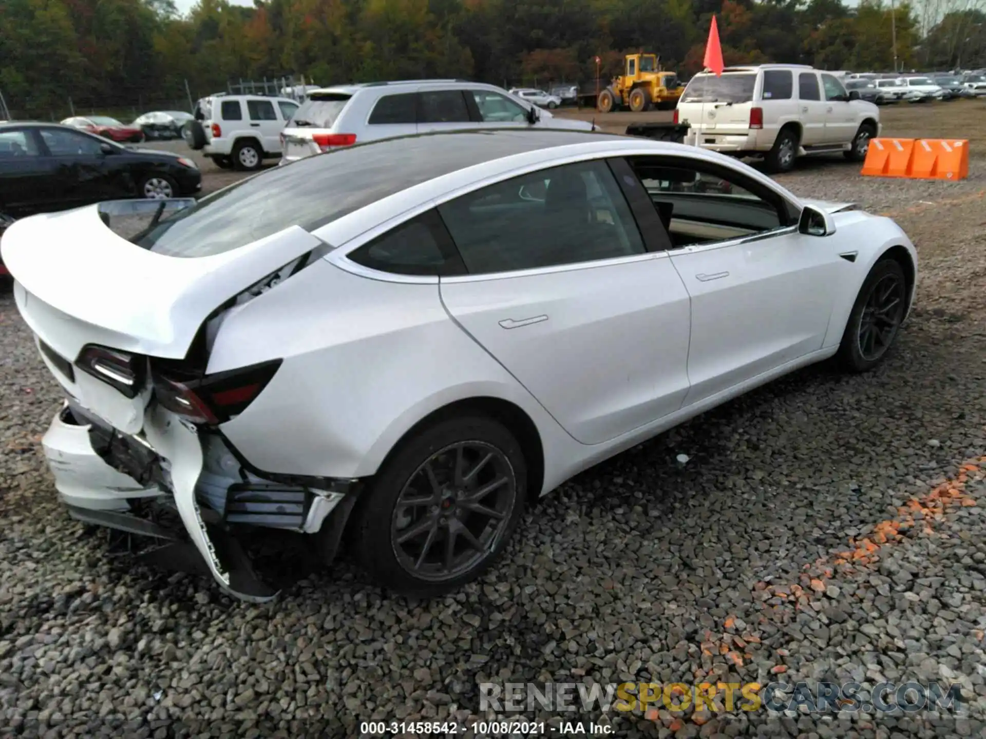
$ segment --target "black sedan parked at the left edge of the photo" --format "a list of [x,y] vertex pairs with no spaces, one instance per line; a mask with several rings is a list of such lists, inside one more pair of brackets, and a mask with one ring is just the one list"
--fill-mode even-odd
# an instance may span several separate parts
[[202,174],[168,152],[55,123],[0,123],[0,213],[20,218],[122,198],[194,195]]

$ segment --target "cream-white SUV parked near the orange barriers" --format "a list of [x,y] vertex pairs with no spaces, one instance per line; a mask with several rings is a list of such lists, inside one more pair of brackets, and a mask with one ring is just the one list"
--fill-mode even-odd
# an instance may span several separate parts
[[[762,157],[787,171],[797,157],[842,152],[862,162],[880,134],[880,109],[834,75],[802,64],[727,67],[692,78],[674,111],[704,149]],[[695,141],[697,139],[697,141]]]

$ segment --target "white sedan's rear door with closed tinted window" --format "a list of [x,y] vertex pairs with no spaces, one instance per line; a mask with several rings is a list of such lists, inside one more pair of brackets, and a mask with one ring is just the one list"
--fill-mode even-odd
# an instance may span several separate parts
[[599,443],[681,407],[688,295],[605,162],[529,172],[438,212],[468,273],[441,278],[447,310],[572,437]]

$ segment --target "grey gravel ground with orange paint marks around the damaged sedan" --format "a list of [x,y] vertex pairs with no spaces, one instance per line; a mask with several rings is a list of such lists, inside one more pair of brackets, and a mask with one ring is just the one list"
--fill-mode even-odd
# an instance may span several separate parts
[[958,684],[965,716],[524,715],[619,736],[982,735],[981,154],[971,172],[782,177],[914,237],[918,304],[888,362],[800,371],[599,465],[536,505],[479,582],[432,602],[343,561],[252,606],[110,556],[55,501],[38,439],[59,392],[3,291],[0,734],[356,736],[373,718],[476,717],[480,682],[913,680]]

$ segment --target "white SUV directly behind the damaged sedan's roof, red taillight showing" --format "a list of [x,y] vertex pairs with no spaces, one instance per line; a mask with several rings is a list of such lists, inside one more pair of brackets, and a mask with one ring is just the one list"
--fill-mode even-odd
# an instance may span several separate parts
[[459,80],[341,85],[309,93],[284,129],[281,164],[394,136],[531,126],[596,128],[587,121],[557,118],[493,85]]

